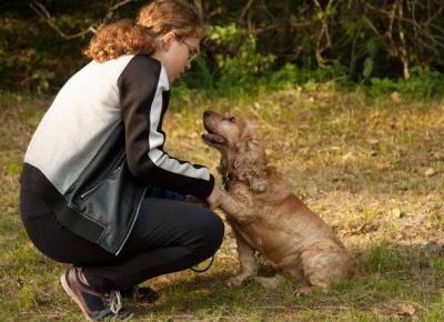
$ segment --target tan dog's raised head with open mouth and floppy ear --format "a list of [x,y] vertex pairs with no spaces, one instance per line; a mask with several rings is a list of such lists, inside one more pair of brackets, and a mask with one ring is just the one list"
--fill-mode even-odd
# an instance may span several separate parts
[[242,118],[203,113],[206,133],[202,140],[218,149],[221,154],[219,171],[234,179],[246,181],[254,192],[266,189],[266,155],[264,144],[255,137],[252,127]]

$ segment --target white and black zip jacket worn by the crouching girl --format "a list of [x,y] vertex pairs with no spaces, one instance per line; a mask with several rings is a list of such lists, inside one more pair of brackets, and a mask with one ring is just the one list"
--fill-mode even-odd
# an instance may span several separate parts
[[60,90],[28,147],[21,211],[53,211],[81,237],[118,254],[150,185],[206,198],[214,178],[169,155],[162,121],[165,68],[148,56],[90,62]]

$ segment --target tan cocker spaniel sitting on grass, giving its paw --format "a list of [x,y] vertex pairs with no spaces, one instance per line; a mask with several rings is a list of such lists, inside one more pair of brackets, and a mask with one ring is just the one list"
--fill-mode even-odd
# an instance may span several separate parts
[[[268,164],[265,145],[252,125],[213,111],[203,113],[203,142],[221,153],[221,208],[238,243],[240,272],[226,284],[239,286],[254,279],[275,288],[290,274],[309,283],[295,291],[295,295],[306,295],[354,278],[356,270],[343,243]],[[274,276],[256,275],[255,251],[274,268]]]

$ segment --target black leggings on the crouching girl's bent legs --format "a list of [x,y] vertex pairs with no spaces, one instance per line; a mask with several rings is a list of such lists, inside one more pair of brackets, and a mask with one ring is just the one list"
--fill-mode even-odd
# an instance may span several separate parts
[[115,256],[62,227],[52,213],[22,219],[43,254],[83,266],[87,280],[95,288],[121,291],[202,262],[220,248],[224,232],[222,220],[208,209],[147,198],[130,238]]

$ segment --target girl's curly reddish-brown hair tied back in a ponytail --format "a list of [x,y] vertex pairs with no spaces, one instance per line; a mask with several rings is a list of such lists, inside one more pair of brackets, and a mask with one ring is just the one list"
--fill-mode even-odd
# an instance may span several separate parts
[[98,62],[123,54],[152,54],[155,38],[173,31],[179,38],[203,37],[196,8],[184,0],[154,0],[142,7],[138,18],[107,24],[91,40],[84,54]]

